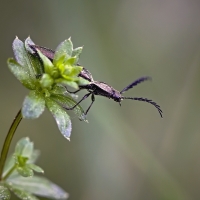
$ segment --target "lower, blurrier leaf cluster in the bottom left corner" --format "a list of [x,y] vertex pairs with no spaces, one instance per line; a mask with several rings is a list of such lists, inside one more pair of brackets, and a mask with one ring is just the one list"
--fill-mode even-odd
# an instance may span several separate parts
[[[11,193],[20,199],[38,200],[36,196],[51,199],[67,199],[68,194],[59,186],[34,172],[44,173],[35,164],[39,151],[29,138],[18,141],[15,152],[7,160],[0,183],[0,199],[9,200]],[[35,196],[36,195],[36,196]]]

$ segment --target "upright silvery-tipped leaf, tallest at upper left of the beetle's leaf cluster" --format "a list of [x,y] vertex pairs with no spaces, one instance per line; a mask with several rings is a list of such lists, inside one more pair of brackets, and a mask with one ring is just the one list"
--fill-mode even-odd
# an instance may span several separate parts
[[28,73],[30,79],[35,79],[34,68],[32,67],[28,52],[25,49],[24,43],[19,40],[17,37],[13,41],[13,52],[15,55],[16,61],[23,66],[24,70]]

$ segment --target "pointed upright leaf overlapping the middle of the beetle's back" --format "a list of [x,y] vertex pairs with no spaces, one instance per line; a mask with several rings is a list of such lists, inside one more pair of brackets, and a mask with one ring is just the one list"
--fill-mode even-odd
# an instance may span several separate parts
[[57,62],[63,55],[65,55],[65,60],[69,59],[72,55],[72,51],[73,51],[73,44],[72,44],[71,38],[69,38],[65,40],[64,42],[62,42],[56,48],[54,59],[53,59],[54,65],[57,64]]

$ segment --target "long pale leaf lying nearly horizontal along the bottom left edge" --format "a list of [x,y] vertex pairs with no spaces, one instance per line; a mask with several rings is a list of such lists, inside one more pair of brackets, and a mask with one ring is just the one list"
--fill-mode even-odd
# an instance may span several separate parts
[[67,199],[68,193],[46,178],[33,176],[31,178],[16,177],[10,181],[13,186],[26,188],[26,191],[38,196],[52,199]]

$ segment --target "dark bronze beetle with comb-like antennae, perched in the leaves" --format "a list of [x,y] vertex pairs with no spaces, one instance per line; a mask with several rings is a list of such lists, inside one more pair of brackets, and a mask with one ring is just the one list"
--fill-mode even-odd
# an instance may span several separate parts
[[[36,54],[37,54],[36,50],[40,50],[51,61],[53,60],[55,51],[48,49],[48,48],[45,48],[45,47],[38,46],[38,45],[30,45],[30,47],[34,50],[34,52]],[[73,110],[83,100],[87,99],[91,95],[92,102],[85,112],[85,115],[87,115],[87,113],[89,112],[90,108],[92,107],[92,105],[95,101],[95,95],[99,95],[99,96],[107,97],[109,99],[113,99],[114,101],[118,102],[120,104],[120,106],[121,106],[121,101],[124,100],[124,99],[147,102],[149,104],[152,104],[158,110],[160,116],[162,117],[162,110],[161,110],[160,106],[156,102],[152,101],[151,99],[147,99],[147,98],[143,98],[143,97],[125,97],[125,96],[122,96],[122,94],[124,92],[133,88],[134,86],[136,86],[136,85],[138,85],[138,84],[140,84],[144,81],[151,80],[151,78],[148,77],[148,76],[141,77],[141,78],[133,81],[131,84],[126,86],[121,92],[114,89],[112,86],[109,86],[107,83],[104,83],[102,81],[94,81],[92,74],[85,68],[82,69],[82,71],[80,72],[80,74],[78,76],[88,80],[89,84],[79,85],[79,89],[74,91],[74,92],[70,92],[68,90],[67,91],[69,93],[75,94],[75,93],[77,93],[77,92],[79,92],[83,89],[86,89],[88,91],[88,93],[79,102],[77,102],[73,107],[71,107],[71,108],[64,107],[66,110]]]

